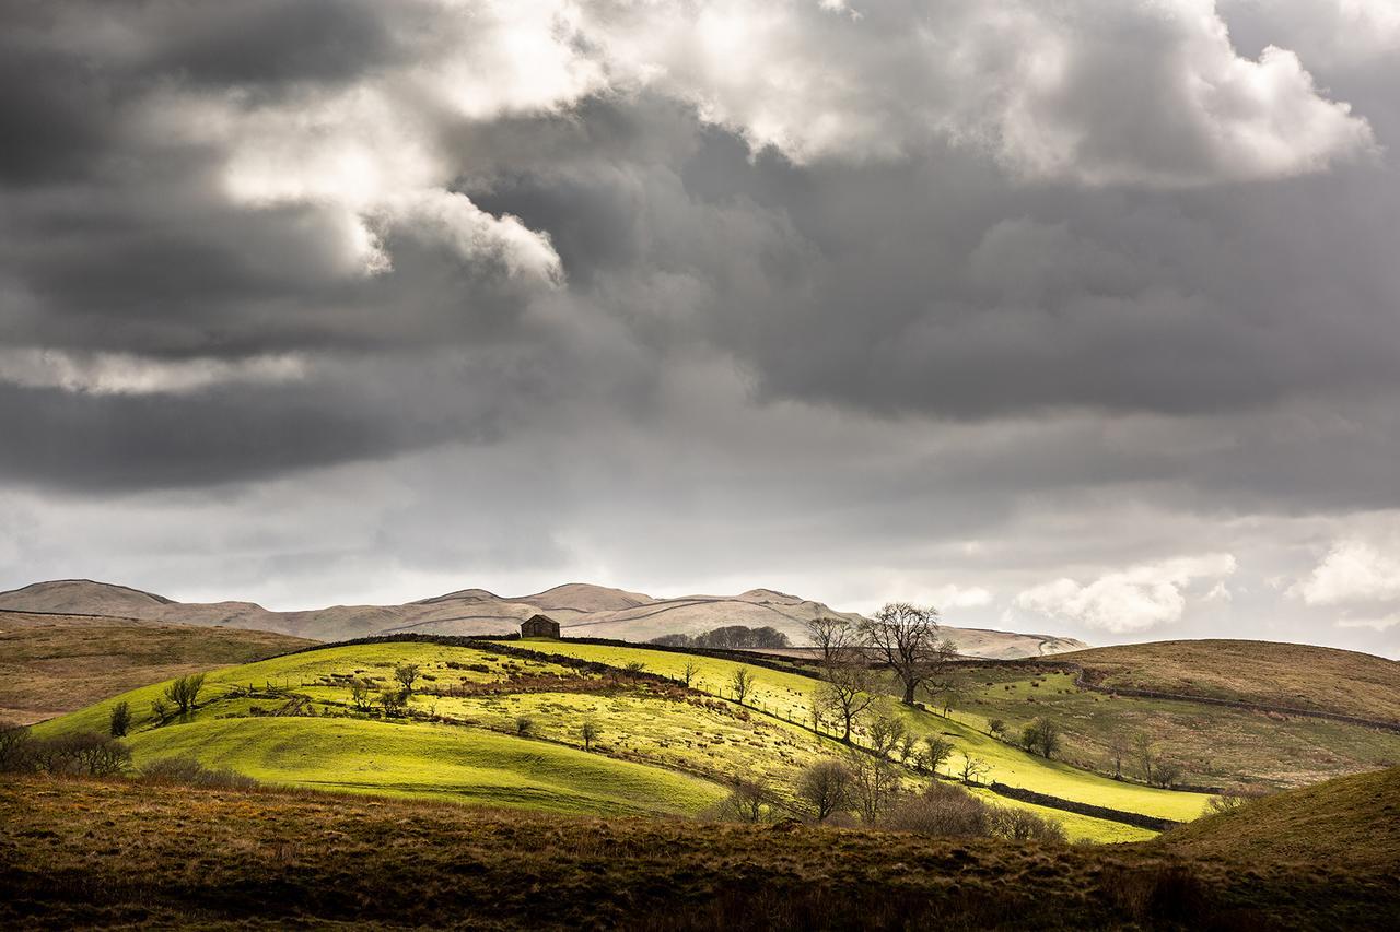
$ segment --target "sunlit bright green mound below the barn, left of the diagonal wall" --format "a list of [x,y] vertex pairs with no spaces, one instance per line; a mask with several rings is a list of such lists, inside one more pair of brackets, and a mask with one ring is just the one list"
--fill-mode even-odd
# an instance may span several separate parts
[[[35,733],[102,730],[112,707],[126,702],[134,715],[129,744],[137,768],[192,756],[279,785],[609,814],[693,814],[739,778],[762,781],[776,805],[792,807],[802,770],[843,753],[833,739],[795,722],[703,691],[721,690],[736,666],[725,661],[696,658],[706,673],[694,680],[697,689],[685,690],[619,669],[631,655],[613,658],[620,661],[615,668],[580,669],[504,649],[433,642],[328,647],[216,670],[197,709],[185,718],[160,721],[151,705],[164,684],[150,684],[41,723]],[[399,663],[421,670],[407,715],[386,719],[378,709],[354,709],[351,677],[388,686]],[[813,686],[805,677],[749,669],[757,696],[773,701],[784,690]],[[662,672],[661,665],[652,672]],[[584,722],[592,726],[587,749]],[[981,740],[966,735],[969,746]],[[1037,788],[1093,795],[1063,770],[1064,786],[1042,779]],[[1046,765],[1035,772],[1056,774]],[[1014,764],[1007,774],[1015,775]],[[923,779],[906,774],[911,789]],[[1189,819],[1201,806],[1200,798],[1165,791],[1117,784],[1105,789],[1127,795],[1106,795],[1099,805],[1145,803],[1141,812],[1163,817]],[[1152,834],[1120,821],[995,802],[1051,814],[1071,838],[1134,841]]]

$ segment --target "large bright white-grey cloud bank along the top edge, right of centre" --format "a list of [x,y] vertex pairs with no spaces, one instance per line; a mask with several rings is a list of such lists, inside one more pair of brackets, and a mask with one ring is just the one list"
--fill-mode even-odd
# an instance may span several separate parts
[[1296,55],[1242,57],[1214,0],[582,6],[573,22],[609,74],[797,161],[888,158],[939,136],[1028,179],[1183,186],[1373,148]]

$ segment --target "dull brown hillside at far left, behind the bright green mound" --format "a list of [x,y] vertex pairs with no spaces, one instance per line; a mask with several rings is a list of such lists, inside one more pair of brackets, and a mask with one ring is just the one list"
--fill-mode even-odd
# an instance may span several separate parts
[[0,719],[38,722],[144,683],[311,644],[270,631],[0,612]]

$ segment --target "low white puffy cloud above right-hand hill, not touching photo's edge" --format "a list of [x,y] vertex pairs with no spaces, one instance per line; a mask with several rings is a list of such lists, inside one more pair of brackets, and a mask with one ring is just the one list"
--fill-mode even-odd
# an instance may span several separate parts
[[1110,572],[1086,585],[1070,578],[1046,582],[1018,595],[1015,605],[1116,634],[1144,631],[1179,621],[1193,584],[1222,581],[1235,568],[1235,557],[1226,553],[1179,557]]

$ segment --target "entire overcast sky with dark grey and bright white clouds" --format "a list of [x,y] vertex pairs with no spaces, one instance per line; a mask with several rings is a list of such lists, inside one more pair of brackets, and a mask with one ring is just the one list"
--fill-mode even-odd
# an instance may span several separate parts
[[10,0],[0,588],[1400,656],[1393,0]]

